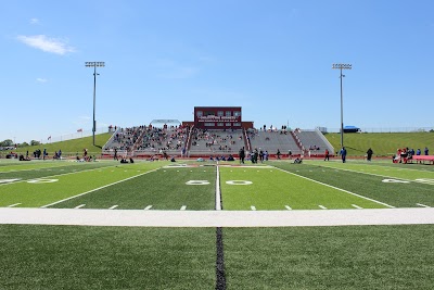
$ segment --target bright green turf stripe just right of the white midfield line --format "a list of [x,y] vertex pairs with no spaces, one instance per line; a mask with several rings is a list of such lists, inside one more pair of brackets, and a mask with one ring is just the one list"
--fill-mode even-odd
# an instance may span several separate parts
[[[290,164],[292,166],[293,164]],[[299,166],[298,166],[299,167]],[[297,168],[298,168],[297,167]],[[237,185],[228,181],[235,180]],[[252,184],[241,185],[241,181]],[[221,167],[224,210],[384,209],[383,204],[349,194],[272,167]]]

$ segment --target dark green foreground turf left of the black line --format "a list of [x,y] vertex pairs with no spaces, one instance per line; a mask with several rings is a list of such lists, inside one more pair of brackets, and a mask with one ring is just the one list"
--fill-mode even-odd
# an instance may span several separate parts
[[215,228],[0,226],[1,289],[213,289]]

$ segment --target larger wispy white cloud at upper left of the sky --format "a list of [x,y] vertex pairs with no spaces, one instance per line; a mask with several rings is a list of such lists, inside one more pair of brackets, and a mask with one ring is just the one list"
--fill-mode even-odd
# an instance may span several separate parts
[[59,39],[59,38],[49,38],[44,35],[34,35],[34,36],[24,36],[20,35],[16,37],[21,42],[40,49],[46,52],[51,52],[55,54],[66,54],[67,52],[74,52],[75,49],[73,47],[67,46],[67,40]]

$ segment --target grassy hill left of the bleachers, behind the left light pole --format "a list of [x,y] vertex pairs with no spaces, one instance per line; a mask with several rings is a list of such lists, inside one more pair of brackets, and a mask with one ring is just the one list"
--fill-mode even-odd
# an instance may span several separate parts
[[43,151],[43,149],[47,149],[47,152],[50,157],[53,156],[54,151],[62,150],[62,155],[82,155],[84,149],[88,149],[88,153],[90,155],[100,155],[101,154],[101,148],[107,142],[107,140],[112,137],[111,133],[105,133],[105,134],[98,134],[95,135],[95,146],[93,146],[93,137],[84,137],[84,138],[78,138],[78,139],[73,139],[73,140],[66,140],[66,141],[61,141],[61,142],[52,142],[52,143],[46,143],[46,144],[40,144],[40,146],[29,146],[29,147],[22,147],[18,148],[16,151],[18,154],[26,154],[26,151],[28,150],[28,154],[31,156],[33,152],[37,149],[40,149]]

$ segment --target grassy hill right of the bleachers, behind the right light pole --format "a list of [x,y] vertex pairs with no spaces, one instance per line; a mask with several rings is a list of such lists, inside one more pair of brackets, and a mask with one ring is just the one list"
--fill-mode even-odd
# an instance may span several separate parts
[[[341,134],[326,134],[326,138],[334,147],[341,149]],[[395,154],[398,148],[412,148],[414,151],[427,147],[430,154],[434,154],[434,133],[363,133],[344,134],[344,146],[348,155],[366,154],[368,148],[372,148],[374,156],[390,156]]]

